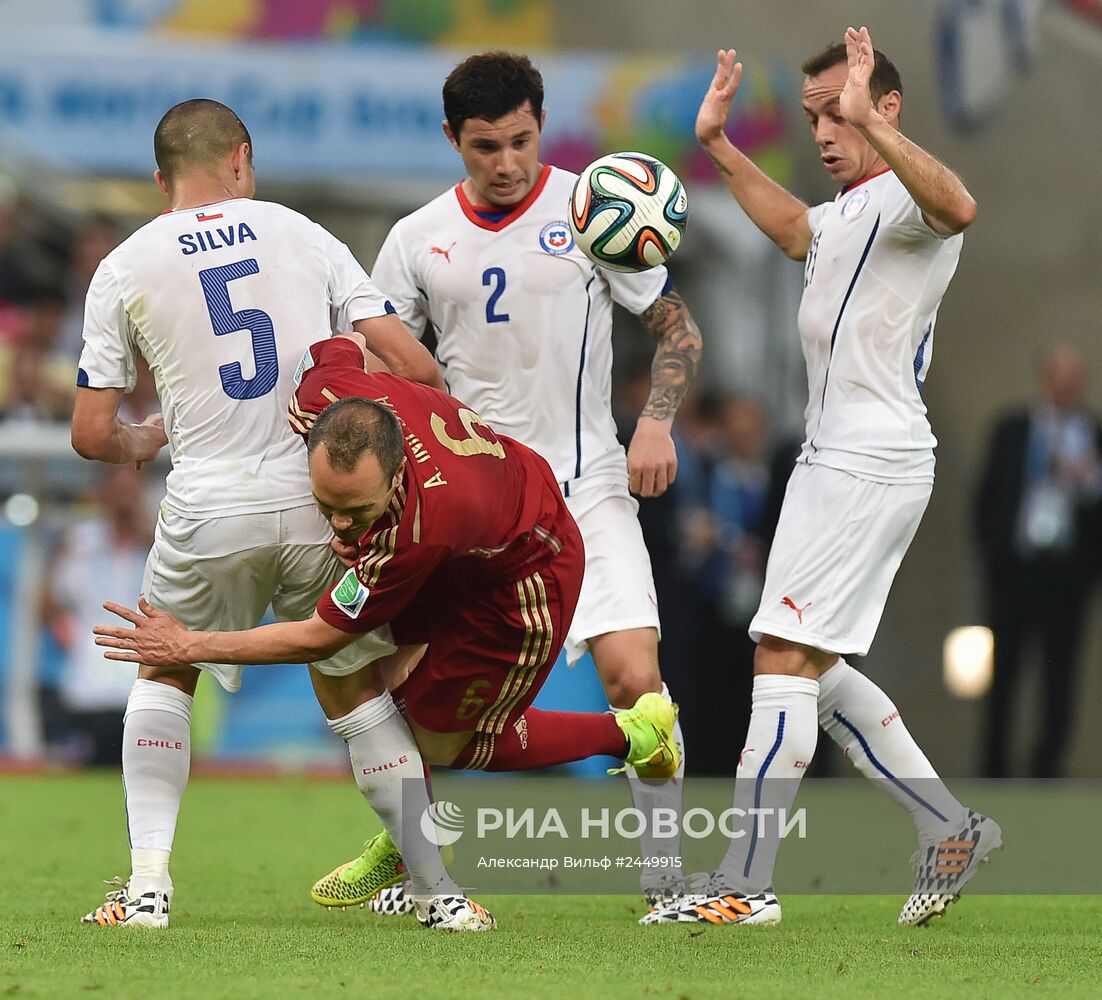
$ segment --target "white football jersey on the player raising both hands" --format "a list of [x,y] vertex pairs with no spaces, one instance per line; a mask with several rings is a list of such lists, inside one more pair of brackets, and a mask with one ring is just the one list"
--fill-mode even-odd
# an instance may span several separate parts
[[880,482],[932,482],[938,442],[921,388],[964,238],[934,233],[892,171],[811,208],[808,225],[800,461]]

